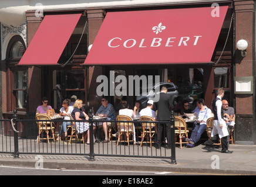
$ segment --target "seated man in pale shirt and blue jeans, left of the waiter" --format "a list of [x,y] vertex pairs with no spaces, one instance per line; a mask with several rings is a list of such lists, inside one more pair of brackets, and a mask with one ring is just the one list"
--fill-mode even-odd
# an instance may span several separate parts
[[198,119],[193,124],[193,130],[190,138],[186,138],[188,147],[194,147],[194,144],[200,140],[202,134],[206,131],[207,119],[211,117],[211,109],[204,105],[204,99],[197,100],[197,107],[192,112],[197,113]]

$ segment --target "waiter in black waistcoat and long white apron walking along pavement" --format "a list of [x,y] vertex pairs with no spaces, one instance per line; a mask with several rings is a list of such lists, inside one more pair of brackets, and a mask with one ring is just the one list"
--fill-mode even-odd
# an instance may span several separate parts
[[223,108],[221,99],[224,96],[224,89],[219,88],[217,92],[217,98],[213,100],[213,114],[214,114],[214,126],[213,131],[211,131],[210,140],[206,141],[204,144],[208,151],[210,151],[210,146],[218,142],[218,139],[221,138],[221,153],[233,153],[233,151],[228,150],[227,136],[228,129],[227,124],[223,118]]

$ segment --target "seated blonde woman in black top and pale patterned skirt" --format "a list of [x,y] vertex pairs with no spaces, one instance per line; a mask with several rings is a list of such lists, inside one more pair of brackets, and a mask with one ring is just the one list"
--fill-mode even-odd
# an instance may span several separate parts
[[[80,99],[76,99],[74,105],[73,105],[73,111],[71,113],[71,116],[74,120],[89,120],[89,116],[83,112],[83,101]],[[89,131],[89,122],[76,122],[76,129],[78,130],[78,133],[82,134],[82,136],[87,137],[87,144],[90,144],[90,131]],[[95,130],[95,124],[93,124],[93,130]],[[87,133],[86,133],[87,131]]]

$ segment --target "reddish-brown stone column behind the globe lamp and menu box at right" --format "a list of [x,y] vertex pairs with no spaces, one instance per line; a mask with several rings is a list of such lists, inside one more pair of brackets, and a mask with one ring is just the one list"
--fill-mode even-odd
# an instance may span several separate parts
[[[255,11],[254,1],[234,0],[235,41],[248,42],[247,56],[241,57],[235,46],[235,77],[255,75]],[[254,83],[255,84],[255,83]],[[252,94],[235,94],[235,143],[256,144],[255,98]]]

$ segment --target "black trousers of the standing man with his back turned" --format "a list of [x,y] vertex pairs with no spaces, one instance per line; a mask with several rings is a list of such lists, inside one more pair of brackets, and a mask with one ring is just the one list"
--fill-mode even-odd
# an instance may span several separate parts
[[167,137],[167,146],[171,147],[171,125],[170,125],[170,123],[158,123],[157,124],[157,140],[156,140],[157,147],[161,146],[162,136]]

